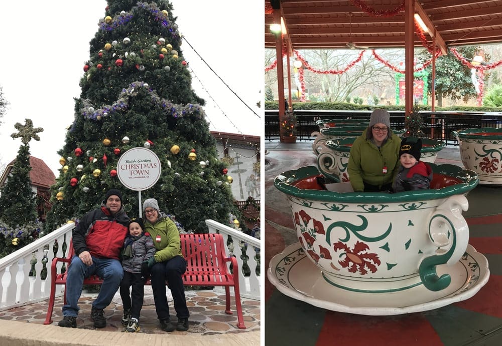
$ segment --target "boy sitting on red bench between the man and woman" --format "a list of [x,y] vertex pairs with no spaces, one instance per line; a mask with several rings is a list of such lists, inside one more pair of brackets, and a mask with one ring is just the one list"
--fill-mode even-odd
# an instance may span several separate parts
[[[144,284],[148,273],[145,272],[143,262],[155,255],[152,237],[145,232],[143,221],[133,218],[129,221],[129,235],[124,240],[122,251],[122,268],[124,277],[120,283],[120,297],[122,298],[122,324],[126,332],[140,330],[140,311],[143,307]],[[148,266],[147,266],[148,268]],[[129,288],[132,287],[131,296]]]

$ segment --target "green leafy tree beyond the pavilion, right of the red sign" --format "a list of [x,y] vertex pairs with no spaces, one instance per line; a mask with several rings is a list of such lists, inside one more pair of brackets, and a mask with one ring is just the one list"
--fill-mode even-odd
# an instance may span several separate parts
[[[472,59],[479,47],[458,47],[457,51],[464,58]],[[430,54],[427,55],[430,59]],[[489,55],[485,55],[485,61],[489,60]],[[432,76],[432,67],[426,68]],[[428,90],[432,91],[432,77],[428,78]],[[443,97],[450,97],[453,100],[462,99],[466,102],[469,98],[477,97],[476,90],[472,84],[471,71],[448,51],[448,55],[441,56],[436,60],[436,99],[438,107],[443,105]],[[429,95],[430,96],[430,95]]]

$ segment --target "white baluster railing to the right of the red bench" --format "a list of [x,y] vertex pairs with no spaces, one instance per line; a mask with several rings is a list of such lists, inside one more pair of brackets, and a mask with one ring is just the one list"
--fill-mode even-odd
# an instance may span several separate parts
[[[239,232],[231,227],[225,226],[221,223],[218,223],[213,220],[206,220],[206,225],[209,228],[209,233],[220,233],[223,235],[225,247],[227,254],[235,255],[237,259],[237,264],[240,268],[239,270],[239,288],[240,295],[246,298],[260,300],[260,276],[257,275],[256,269],[258,266],[258,262],[255,259],[260,258],[260,239],[253,238],[245,233]],[[228,236],[230,236],[233,240],[232,245],[233,248],[228,248]],[[247,244],[247,246],[237,246],[236,244],[243,245]],[[242,270],[242,266],[244,261],[242,260],[242,249],[245,251],[245,255],[247,256],[247,266],[250,270],[249,276],[244,276],[244,272]],[[260,268],[259,268],[260,270]],[[261,274],[261,272],[260,272]],[[224,292],[224,287],[215,287],[215,291]]]

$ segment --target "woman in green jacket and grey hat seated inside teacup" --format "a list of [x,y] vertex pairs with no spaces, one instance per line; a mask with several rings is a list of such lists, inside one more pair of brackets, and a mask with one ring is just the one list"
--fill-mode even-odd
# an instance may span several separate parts
[[375,109],[368,128],[352,144],[347,172],[354,191],[392,191],[400,166],[401,138],[393,134],[390,126],[389,112]]

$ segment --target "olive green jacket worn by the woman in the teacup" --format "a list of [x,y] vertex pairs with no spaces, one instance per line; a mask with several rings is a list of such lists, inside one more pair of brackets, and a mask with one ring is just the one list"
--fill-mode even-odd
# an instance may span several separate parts
[[[354,191],[364,191],[363,181],[379,187],[392,183],[401,166],[401,138],[393,135],[379,149],[366,138],[366,131],[356,138],[350,148],[347,173]],[[387,167],[387,173],[383,172],[384,167]]]

